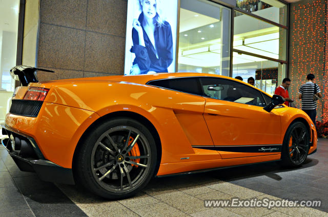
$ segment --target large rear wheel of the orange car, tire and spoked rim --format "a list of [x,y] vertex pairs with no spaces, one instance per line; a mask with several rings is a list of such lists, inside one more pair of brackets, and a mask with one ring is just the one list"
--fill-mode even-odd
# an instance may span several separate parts
[[110,119],[84,138],[73,170],[76,181],[96,195],[107,199],[128,198],[154,176],[155,140],[136,120]]

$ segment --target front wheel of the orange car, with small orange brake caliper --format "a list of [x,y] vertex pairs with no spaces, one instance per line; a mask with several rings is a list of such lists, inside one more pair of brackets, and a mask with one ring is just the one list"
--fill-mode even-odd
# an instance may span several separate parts
[[310,149],[310,133],[302,122],[294,122],[289,126],[283,138],[281,163],[283,166],[296,167],[308,157]]

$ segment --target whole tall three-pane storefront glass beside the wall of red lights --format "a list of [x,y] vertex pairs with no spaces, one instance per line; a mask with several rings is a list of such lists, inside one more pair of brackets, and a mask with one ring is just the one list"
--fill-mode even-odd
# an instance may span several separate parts
[[274,94],[286,76],[287,5],[237,0],[234,8],[232,77]]

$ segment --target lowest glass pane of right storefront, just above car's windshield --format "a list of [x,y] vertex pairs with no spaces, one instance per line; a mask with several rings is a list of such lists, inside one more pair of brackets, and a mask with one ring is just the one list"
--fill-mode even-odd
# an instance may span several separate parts
[[286,64],[236,52],[233,53],[232,64],[234,78],[240,76],[247,82],[248,78],[253,77],[254,86],[270,94],[274,94],[286,73]]

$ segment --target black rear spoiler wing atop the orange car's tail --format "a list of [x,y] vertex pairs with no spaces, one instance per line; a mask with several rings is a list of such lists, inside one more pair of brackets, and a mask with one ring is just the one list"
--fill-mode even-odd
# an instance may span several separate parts
[[31,82],[38,82],[35,75],[35,71],[37,70],[54,73],[54,71],[48,69],[34,68],[26,65],[16,65],[10,69],[10,75],[14,80],[22,82],[23,86],[27,86]]

